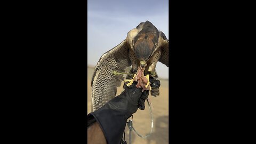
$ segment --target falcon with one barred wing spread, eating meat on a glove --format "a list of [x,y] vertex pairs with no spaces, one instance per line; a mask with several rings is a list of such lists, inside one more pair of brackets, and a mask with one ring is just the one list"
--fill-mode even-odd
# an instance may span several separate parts
[[[92,111],[115,98],[117,87],[124,80],[127,86],[137,81],[142,91],[150,90],[154,97],[159,95],[158,87],[151,87],[149,81],[158,78],[155,70],[158,61],[169,67],[169,40],[151,22],[141,22],[98,61],[91,82]],[[125,73],[130,66],[129,73]],[[123,74],[127,74],[126,78]]]

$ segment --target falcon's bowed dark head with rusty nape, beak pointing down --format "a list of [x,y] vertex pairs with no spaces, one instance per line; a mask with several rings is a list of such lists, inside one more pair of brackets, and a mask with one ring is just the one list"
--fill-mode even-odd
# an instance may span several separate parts
[[143,68],[158,45],[159,31],[149,21],[136,27],[137,35],[132,38],[132,48]]

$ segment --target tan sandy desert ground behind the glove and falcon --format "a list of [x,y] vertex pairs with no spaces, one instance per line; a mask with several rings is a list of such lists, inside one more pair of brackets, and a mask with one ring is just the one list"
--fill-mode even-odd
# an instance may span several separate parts
[[[93,74],[93,68],[88,68],[87,71],[87,114],[91,112],[91,79]],[[140,138],[134,131],[131,133],[131,143],[169,143],[169,111],[168,111],[168,81],[160,79],[160,95],[158,97],[152,97],[149,95],[149,99],[153,104],[153,117],[154,128],[153,132],[148,138]],[[118,87],[117,95],[123,91],[123,87]],[[141,135],[145,136],[151,129],[150,111],[145,102],[145,110],[140,110],[133,115],[133,127]],[[125,139],[129,143],[129,128],[125,128]]]

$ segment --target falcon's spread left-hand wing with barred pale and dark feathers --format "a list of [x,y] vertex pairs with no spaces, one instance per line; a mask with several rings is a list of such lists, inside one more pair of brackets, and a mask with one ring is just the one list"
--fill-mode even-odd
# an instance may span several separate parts
[[115,98],[117,87],[124,80],[122,75],[114,75],[113,71],[124,72],[131,66],[126,40],[104,53],[95,67],[92,77],[92,111]]

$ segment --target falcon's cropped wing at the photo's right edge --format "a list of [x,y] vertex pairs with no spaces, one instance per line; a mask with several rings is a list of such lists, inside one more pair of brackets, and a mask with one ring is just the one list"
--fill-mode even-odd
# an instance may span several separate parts
[[169,67],[169,40],[166,38],[162,31],[159,31],[159,37],[161,37],[162,45],[161,45],[161,57],[158,61],[164,63],[167,67]]

